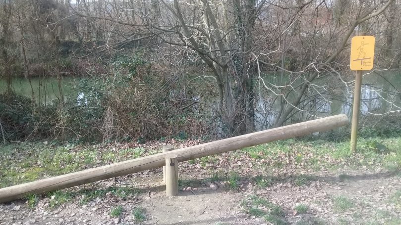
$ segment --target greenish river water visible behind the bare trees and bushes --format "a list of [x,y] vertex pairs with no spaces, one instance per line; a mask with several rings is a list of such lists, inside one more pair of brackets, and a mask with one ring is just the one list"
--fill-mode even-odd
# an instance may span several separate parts
[[[268,75],[267,77],[265,77],[265,79],[271,80],[271,77],[269,76],[273,75]],[[68,96],[74,99],[76,98],[78,102],[82,102],[81,98],[83,98],[84,94],[82,90],[79,90],[79,87],[80,84],[83,83],[83,81],[85,83],[85,81],[87,80],[88,79],[81,79],[79,77],[61,78],[60,84],[64,97]],[[378,73],[372,72],[363,76],[362,83],[362,114],[382,114],[390,111],[400,110],[400,73],[381,72],[379,75]],[[35,93],[36,102],[44,104],[60,98],[57,77],[47,77],[45,79],[32,78],[31,84]],[[264,88],[263,86],[261,87],[262,91],[257,91],[260,94],[257,95],[255,112],[257,130],[265,130],[271,127],[271,124],[273,123],[276,115],[279,113],[280,108],[278,101],[272,100],[275,96],[272,95],[269,91],[263,91]],[[5,90],[5,88],[5,82],[0,80],[0,90]],[[17,94],[32,97],[30,84],[25,78],[13,79],[12,89]],[[312,99],[311,101],[305,103],[309,104],[310,106],[303,105],[303,108],[307,110],[299,112],[299,114],[302,114],[299,116],[300,120],[310,119],[311,117],[315,116],[336,115],[340,113],[344,113],[350,116],[353,99],[353,88],[350,87],[349,83],[348,87],[346,85],[343,85],[343,88],[338,91],[340,92],[337,93],[337,97],[331,99],[319,98],[316,101]],[[202,101],[203,99],[199,100]],[[313,102],[313,104],[311,102]],[[208,103],[210,104],[211,102]],[[196,107],[196,105],[194,107]]]

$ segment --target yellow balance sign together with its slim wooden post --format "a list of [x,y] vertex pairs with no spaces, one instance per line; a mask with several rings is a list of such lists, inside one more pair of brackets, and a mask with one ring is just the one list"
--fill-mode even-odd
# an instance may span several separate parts
[[353,37],[351,40],[351,57],[349,62],[349,68],[356,71],[352,107],[351,151],[356,151],[362,71],[373,69],[373,56],[375,53],[375,37],[364,36],[364,33],[359,33],[359,35],[360,36]]

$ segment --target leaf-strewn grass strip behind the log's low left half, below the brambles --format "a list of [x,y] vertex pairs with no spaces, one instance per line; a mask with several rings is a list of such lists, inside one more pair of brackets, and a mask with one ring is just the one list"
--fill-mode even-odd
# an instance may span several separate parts
[[[0,188],[141,157],[144,148],[103,151],[103,145],[17,143],[0,146]],[[18,157],[15,157],[18,156]]]

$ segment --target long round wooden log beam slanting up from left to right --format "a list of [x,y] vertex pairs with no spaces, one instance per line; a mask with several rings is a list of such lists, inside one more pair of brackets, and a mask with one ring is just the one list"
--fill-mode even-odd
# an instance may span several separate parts
[[346,115],[336,115],[303,123],[255,132],[247,135],[230,137],[209,143],[181,148],[142,158],[132,159],[107,166],[65,174],[53,178],[37,180],[0,189],[0,203],[15,200],[28,193],[42,194],[53,190],[105,180],[143,170],[162,167],[166,164],[167,154],[178,156],[178,162],[201,158],[244,147],[263,144],[275,140],[307,135],[313,132],[327,131],[348,124]]

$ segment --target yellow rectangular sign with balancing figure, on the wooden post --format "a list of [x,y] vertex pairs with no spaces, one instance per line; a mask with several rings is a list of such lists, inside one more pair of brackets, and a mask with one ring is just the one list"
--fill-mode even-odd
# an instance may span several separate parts
[[373,69],[373,56],[375,54],[375,37],[355,36],[351,40],[351,70]]

